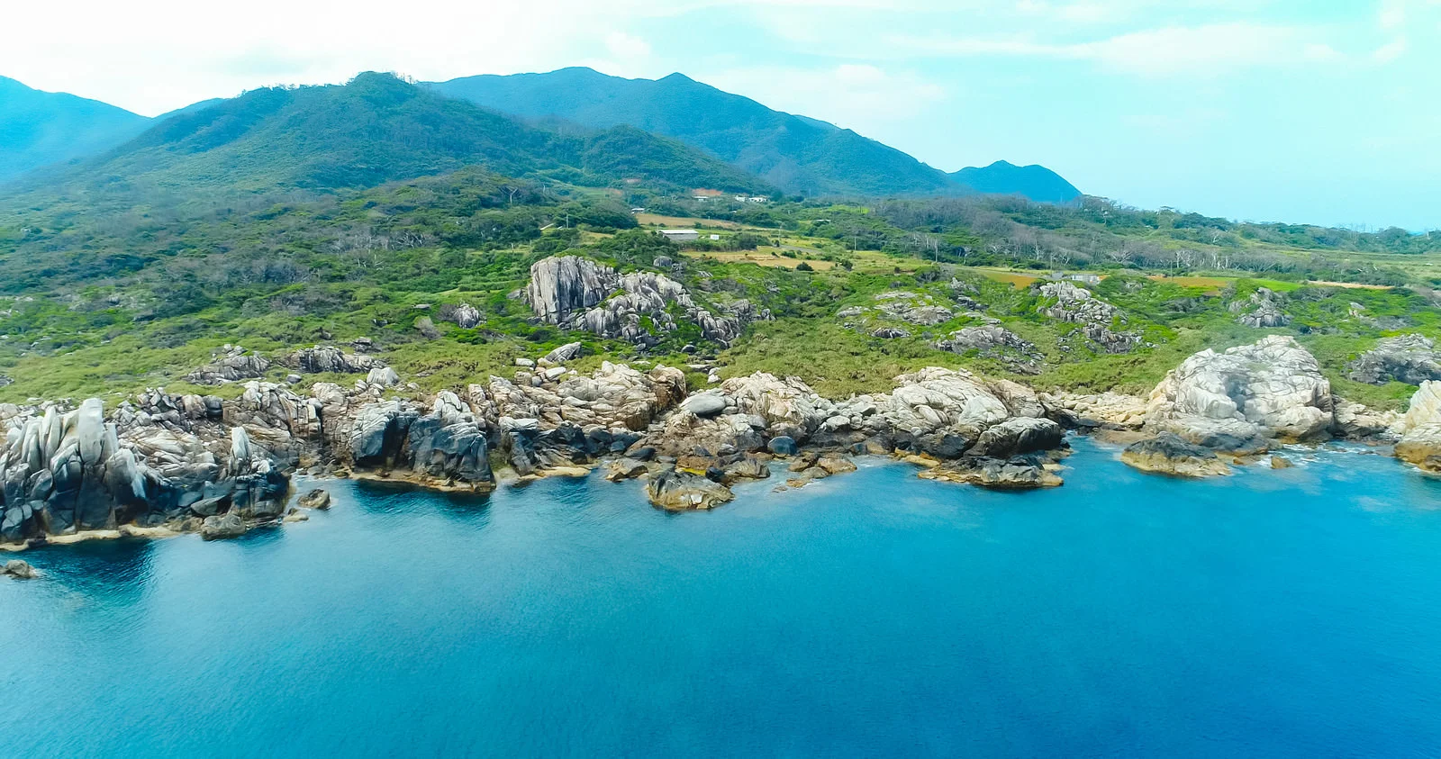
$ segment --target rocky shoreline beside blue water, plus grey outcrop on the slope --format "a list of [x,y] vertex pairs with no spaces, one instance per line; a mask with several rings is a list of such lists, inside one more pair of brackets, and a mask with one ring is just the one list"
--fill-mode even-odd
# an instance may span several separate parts
[[[647,305],[635,292],[656,282],[635,281],[635,297],[602,302],[597,292],[614,272],[543,264],[526,298],[552,323],[576,310],[604,311],[604,320],[581,321],[602,334],[621,324],[630,334],[646,308],[690,304],[666,289],[669,281],[660,282],[669,300]],[[569,269],[601,284],[546,278]],[[1398,458],[1441,472],[1441,383],[1424,382],[1404,416],[1376,413],[1336,398],[1316,359],[1280,336],[1203,350],[1144,399],[1036,393],[940,367],[901,374],[886,393],[847,399],[767,373],[690,393],[684,373],[666,366],[643,372],[607,361],[581,374],[566,366],[579,344],[519,359],[510,379],[424,396],[401,387],[402,377],[369,356],[372,347],[316,346],[281,360],[297,372],[363,373],[352,387],[301,389],[301,374],[246,380],[264,360],[228,346],[196,376],[238,377],[244,392],[235,399],[151,390],[112,409],[98,399],[0,405],[0,546],[82,536],[236,537],[329,504],[323,493],[293,504],[297,472],[486,493],[497,471],[529,480],[604,465],[608,480],[644,480],[650,501],[667,510],[718,507],[732,498],[732,484],[769,478],[778,464],[791,477],[777,490],[804,487],[855,470],[855,455],[895,457],[938,481],[1058,487],[1068,431],[1118,439],[1128,444],[1124,462],[1179,477],[1223,475],[1278,445],[1329,439],[1393,442]],[[1404,360],[1418,363],[1411,354]],[[1366,370],[1385,374],[1385,364],[1369,359]]]

